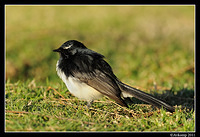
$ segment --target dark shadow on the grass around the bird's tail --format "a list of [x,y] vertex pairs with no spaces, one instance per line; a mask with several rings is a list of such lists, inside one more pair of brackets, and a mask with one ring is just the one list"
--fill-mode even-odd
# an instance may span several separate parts
[[[178,91],[173,89],[161,91],[158,93],[156,91],[151,91],[150,94],[158,99],[163,100],[172,106],[181,106],[181,108],[187,108],[189,110],[194,110],[194,89],[183,88]],[[139,99],[131,98],[134,104],[147,104]],[[128,101],[129,103],[130,101]]]

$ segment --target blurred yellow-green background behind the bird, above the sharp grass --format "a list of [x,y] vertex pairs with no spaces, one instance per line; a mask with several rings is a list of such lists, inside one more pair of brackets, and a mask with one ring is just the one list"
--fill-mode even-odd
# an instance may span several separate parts
[[150,89],[194,89],[194,6],[5,8],[6,80],[61,83],[52,52],[75,39],[103,54],[116,76]]

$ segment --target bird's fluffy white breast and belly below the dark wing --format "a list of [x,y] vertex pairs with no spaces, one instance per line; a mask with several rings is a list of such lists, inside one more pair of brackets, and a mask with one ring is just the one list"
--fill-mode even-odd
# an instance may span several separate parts
[[100,92],[96,89],[88,86],[86,83],[79,81],[78,79],[74,78],[73,76],[66,77],[64,72],[58,68],[58,63],[56,65],[56,71],[58,76],[63,80],[65,85],[67,86],[68,90],[79,99],[92,101],[95,99],[99,99],[103,96]]

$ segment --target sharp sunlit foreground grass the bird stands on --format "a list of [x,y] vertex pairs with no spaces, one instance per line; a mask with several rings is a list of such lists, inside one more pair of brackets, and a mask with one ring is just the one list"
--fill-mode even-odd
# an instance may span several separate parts
[[[184,99],[188,104],[190,96]],[[64,85],[8,82],[5,97],[6,131],[194,131],[193,109],[179,106],[173,114],[147,104],[127,109],[105,97],[88,109]]]

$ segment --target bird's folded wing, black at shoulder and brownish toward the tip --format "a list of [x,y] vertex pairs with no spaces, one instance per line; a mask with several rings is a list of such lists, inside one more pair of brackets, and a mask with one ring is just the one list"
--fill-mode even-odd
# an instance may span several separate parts
[[103,56],[84,54],[84,56],[76,56],[73,61],[76,67],[71,74],[75,78],[127,107],[121,98],[121,90],[116,83],[116,77],[109,64],[103,60]]

